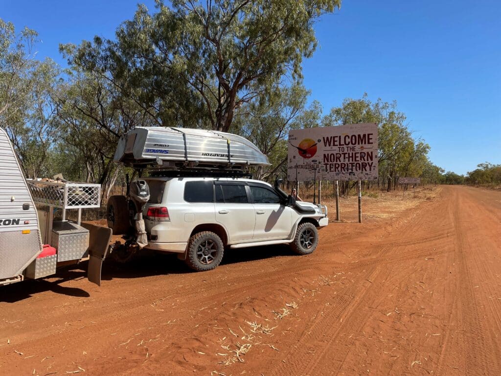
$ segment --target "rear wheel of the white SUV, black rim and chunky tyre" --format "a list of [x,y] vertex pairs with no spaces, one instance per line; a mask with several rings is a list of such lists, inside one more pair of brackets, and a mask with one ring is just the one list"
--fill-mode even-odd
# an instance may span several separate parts
[[221,238],[211,231],[202,231],[189,239],[184,262],[191,270],[204,272],[219,265],[223,253]]

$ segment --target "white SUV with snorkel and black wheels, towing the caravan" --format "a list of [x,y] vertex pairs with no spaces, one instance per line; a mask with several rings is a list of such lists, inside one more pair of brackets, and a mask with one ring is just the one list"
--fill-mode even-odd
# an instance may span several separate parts
[[[214,269],[224,247],[290,244],[300,255],[318,244],[327,208],[296,202],[278,187],[247,178],[148,177],[150,199],[143,209],[146,248],[173,252],[193,270]],[[108,226],[115,235],[125,198],[113,196]]]

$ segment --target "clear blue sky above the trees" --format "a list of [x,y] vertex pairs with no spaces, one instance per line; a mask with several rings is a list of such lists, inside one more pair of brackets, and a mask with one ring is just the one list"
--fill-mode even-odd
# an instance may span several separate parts
[[[293,0],[291,0],[293,1]],[[40,34],[38,58],[64,65],[59,43],[113,38],[138,1],[0,0],[0,18]],[[153,9],[153,1],[139,1]],[[457,173],[501,163],[501,2],[358,0],[316,25],[304,62],[311,100],[329,112],[346,97],[397,100],[430,159]]]

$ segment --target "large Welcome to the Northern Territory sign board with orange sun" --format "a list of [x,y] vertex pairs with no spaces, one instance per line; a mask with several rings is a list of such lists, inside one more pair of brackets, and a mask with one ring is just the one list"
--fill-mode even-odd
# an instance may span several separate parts
[[377,180],[378,127],[350,124],[289,131],[288,179]]

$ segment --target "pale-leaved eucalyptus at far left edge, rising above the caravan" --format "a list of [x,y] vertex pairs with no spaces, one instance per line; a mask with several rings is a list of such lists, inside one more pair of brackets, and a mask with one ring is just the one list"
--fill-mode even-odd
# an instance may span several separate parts
[[0,126],[7,130],[30,177],[48,171],[54,108],[51,93],[59,68],[36,57],[38,34],[0,19]]

